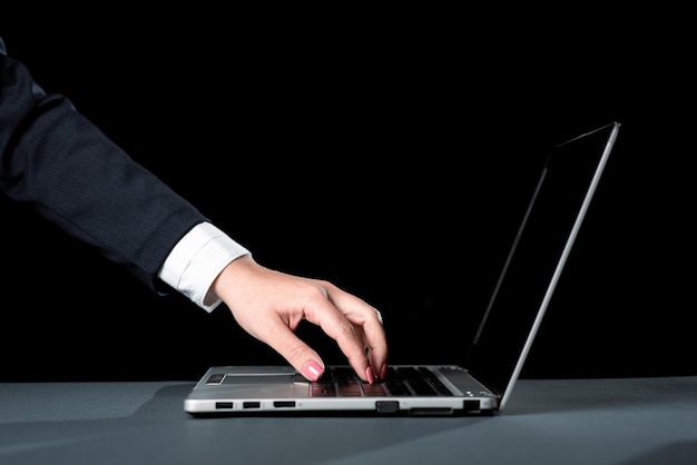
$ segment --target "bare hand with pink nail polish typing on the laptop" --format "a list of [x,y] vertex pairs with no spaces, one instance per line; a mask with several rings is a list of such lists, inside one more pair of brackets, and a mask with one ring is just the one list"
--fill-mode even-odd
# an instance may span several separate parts
[[307,379],[317,380],[324,363],[295,335],[303,319],[336,340],[361,379],[384,378],[387,344],[380,311],[333,284],[275,271],[245,256],[220,273],[212,290],[247,333]]

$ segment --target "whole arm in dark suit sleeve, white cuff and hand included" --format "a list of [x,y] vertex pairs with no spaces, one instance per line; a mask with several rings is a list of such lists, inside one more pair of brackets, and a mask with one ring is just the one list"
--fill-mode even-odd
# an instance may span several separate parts
[[150,288],[163,281],[238,324],[316,379],[321,357],[295,334],[333,337],[364,380],[382,376],[380,313],[327,281],[271,270],[136,164],[63,96],[47,95],[0,39],[0,188],[97,247]]

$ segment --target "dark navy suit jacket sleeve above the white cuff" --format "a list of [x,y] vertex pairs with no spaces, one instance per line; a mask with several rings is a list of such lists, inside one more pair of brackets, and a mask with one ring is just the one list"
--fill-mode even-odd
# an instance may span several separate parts
[[154,290],[175,244],[206,218],[80,115],[47,95],[0,38],[0,187]]

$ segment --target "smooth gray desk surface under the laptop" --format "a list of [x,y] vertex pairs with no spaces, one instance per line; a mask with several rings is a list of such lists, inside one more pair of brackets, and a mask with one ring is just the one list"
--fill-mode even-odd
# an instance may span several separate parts
[[192,386],[0,384],[0,464],[697,463],[697,376],[523,379],[484,418],[193,418]]

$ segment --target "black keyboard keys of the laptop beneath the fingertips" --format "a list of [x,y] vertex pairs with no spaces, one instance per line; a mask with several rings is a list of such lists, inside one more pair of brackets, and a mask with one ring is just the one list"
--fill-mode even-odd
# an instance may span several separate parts
[[452,396],[425,367],[390,367],[385,379],[364,383],[351,367],[330,367],[312,384],[313,396]]

